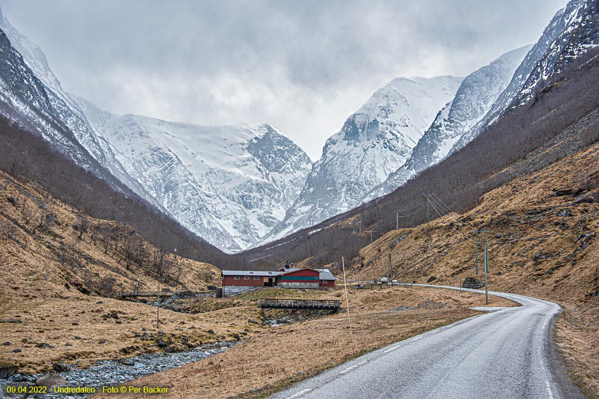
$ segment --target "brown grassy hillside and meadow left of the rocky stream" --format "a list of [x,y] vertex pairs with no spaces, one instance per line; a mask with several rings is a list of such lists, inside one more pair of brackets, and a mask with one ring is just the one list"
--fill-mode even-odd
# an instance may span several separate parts
[[173,291],[219,283],[216,267],[162,252],[126,224],[90,218],[0,172],[0,360],[34,372],[166,349],[158,339],[177,351],[238,339],[247,319],[259,318],[246,305],[201,316],[161,310],[158,330],[155,307],[111,298],[155,291],[158,272]]

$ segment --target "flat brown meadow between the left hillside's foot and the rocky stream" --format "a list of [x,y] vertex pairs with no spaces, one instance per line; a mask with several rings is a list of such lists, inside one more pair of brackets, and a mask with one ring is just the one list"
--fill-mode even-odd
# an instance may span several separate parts
[[[96,360],[161,351],[156,345],[159,339],[170,344],[173,351],[184,351],[202,343],[237,340],[241,331],[262,330],[248,322],[249,318],[261,320],[254,306],[204,315],[161,309],[162,323],[157,329],[155,307],[112,299],[102,299],[104,303],[96,304],[96,300],[49,299],[27,306],[28,310],[14,312],[10,316],[20,316],[23,323],[0,324],[2,342],[11,342],[10,346],[0,346],[2,358],[16,363],[20,371],[33,373],[52,368],[52,363],[58,361],[86,367]],[[117,312],[119,319],[102,317],[113,312]],[[74,322],[78,325],[72,325]],[[150,336],[140,336],[144,327]],[[159,337],[159,331],[164,335]],[[23,339],[25,343],[21,342]],[[50,346],[36,347],[43,343]],[[14,349],[22,352],[14,354],[11,352]]]

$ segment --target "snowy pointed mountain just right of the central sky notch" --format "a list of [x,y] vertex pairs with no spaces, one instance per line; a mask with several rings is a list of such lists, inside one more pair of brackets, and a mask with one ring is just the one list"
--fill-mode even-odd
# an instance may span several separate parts
[[262,242],[359,205],[371,188],[406,162],[462,80],[400,77],[377,90],[326,141],[298,200]]

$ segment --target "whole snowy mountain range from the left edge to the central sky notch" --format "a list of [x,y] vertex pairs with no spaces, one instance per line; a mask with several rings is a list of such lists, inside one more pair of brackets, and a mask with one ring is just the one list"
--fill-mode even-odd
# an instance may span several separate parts
[[109,114],[65,92],[43,51],[7,19],[0,29],[2,114],[223,251],[257,242],[297,199],[311,161],[268,124],[198,126]]

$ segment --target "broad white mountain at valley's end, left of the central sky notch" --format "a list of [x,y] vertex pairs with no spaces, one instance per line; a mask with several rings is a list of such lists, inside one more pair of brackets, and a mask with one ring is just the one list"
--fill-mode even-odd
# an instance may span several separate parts
[[117,116],[78,98],[129,187],[226,252],[257,242],[285,216],[311,161],[268,124],[199,126]]

